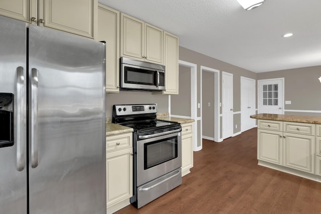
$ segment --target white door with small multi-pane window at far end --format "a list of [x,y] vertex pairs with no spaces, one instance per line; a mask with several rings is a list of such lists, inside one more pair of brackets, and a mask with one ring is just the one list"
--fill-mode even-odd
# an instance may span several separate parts
[[258,113],[283,114],[284,78],[258,80]]

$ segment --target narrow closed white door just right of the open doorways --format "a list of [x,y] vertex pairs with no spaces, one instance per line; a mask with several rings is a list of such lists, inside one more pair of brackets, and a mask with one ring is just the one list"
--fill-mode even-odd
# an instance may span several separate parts
[[222,138],[233,135],[233,74],[222,72]]

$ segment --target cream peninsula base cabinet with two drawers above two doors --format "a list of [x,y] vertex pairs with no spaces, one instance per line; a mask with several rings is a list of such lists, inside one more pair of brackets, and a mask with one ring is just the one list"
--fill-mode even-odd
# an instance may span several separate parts
[[314,174],[315,125],[258,121],[257,158]]

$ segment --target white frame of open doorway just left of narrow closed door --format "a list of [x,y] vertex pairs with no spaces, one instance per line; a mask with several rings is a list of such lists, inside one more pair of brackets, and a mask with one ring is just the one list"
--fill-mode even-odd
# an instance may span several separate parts
[[[214,140],[215,142],[222,142],[223,139],[220,137],[221,131],[221,123],[220,123],[220,71],[217,69],[201,66],[201,136],[203,137],[203,108],[202,108],[202,100],[203,100],[203,71],[204,72],[212,72],[214,73],[214,117],[216,118],[214,121],[214,139],[205,138],[208,140]],[[203,137],[204,138],[204,137]]]

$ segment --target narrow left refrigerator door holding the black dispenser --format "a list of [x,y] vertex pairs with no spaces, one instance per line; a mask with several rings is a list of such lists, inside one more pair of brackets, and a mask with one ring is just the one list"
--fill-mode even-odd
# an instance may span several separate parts
[[27,28],[21,21],[0,16],[0,29],[0,213],[25,214]]

